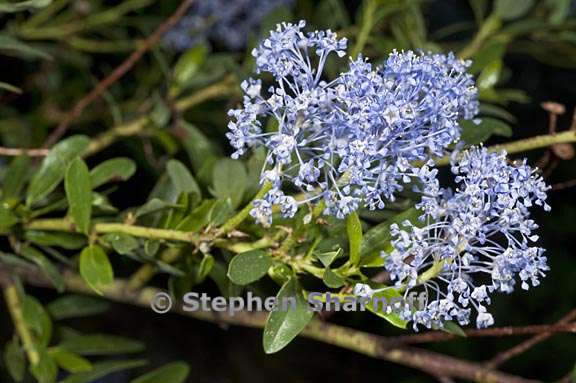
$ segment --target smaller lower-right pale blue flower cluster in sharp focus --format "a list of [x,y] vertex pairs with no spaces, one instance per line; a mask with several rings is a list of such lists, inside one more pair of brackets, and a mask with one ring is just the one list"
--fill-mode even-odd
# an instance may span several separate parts
[[472,311],[478,328],[490,326],[491,293],[510,293],[518,282],[525,290],[538,286],[548,270],[544,249],[533,245],[538,226],[529,212],[550,209],[536,170],[485,148],[455,153],[451,170],[458,188],[423,191],[420,222],[392,225],[394,249],[382,254],[396,286],[427,293],[425,309],[402,312],[415,328],[465,325]]

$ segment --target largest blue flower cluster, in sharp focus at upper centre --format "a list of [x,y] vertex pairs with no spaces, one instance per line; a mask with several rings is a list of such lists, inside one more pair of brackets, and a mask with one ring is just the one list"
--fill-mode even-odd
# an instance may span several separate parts
[[[405,184],[434,182],[430,158],[457,142],[458,121],[478,111],[470,63],[452,54],[393,52],[377,68],[351,59],[329,81],[326,60],[346,55],[346,39],[304,27],[278,25],[254,49],[257,72],[275,82],[263,91],[262,80],[244,81],[243,107],[229,112],[234,158],[250,147],[268,149],[262,182],[273,188],[254,204],[257,221],[271,224],[274,205],[291,217],[310,202],[344,218],[361,205],[383,208]],[[287,185],[307,197],[285,195]]]

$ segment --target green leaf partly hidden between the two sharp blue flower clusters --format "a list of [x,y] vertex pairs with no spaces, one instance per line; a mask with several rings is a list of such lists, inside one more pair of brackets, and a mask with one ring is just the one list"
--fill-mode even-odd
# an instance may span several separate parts
[[415,208],[410,208],[396,216],[392,217],[389,220],[386,220],[368,230],[364,234],[364,238],[362,240],[362,249],[361,253],[361,262],[362,266],[366,266],[368,264],[367,260],[372,257],[376,257],[381,261],[381,263],[376,264],[374,266],[381,266],[383,265],[383,260],[380,257],[380,252],[383,250],[390,250],[390,241],[392,239],[392,235],[390,234],[390,225],[393,223],[401,224],[405,220],[408,220],[412,223],[416,223],[418,221],[418,217],[422,214],[422,212]]

